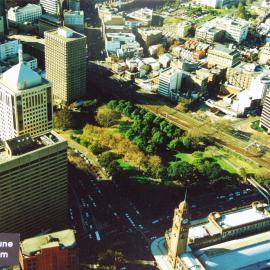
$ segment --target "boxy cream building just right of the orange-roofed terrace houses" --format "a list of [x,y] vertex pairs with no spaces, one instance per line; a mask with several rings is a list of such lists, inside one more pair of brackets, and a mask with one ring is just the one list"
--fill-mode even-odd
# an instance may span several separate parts
[[233,48],[217,45],[208,50],[208,65],[218,68],[234,67],[240,63],[240,53]]

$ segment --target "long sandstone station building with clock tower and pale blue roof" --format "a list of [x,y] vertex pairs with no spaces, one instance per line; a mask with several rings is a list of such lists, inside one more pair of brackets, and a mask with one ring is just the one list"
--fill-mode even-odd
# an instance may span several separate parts
[[269,205],[254,202],[207,218],[190,220],[186,201],[173,226],[151,245],[162,270],[264,269],[269,261]]

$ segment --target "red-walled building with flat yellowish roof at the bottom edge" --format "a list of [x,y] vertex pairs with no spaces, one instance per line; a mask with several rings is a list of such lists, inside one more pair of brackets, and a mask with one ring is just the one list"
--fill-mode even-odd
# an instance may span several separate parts
[[20,243],[22,270],[79,270],[79,250],[73,230],[24,239]]

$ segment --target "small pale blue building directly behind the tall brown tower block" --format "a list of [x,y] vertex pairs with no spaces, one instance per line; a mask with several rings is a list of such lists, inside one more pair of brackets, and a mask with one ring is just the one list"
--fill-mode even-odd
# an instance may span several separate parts
[[84,33],[84,12],[81,11],[64,11],[64,25],[74,31]]

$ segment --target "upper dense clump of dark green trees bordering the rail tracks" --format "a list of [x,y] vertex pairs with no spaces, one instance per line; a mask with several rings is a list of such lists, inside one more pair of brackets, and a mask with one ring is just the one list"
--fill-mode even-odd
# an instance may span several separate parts
[[146,154],[164,156],[164,153],[167,152],[193,152],[203,150],[208,144],[205,138],[189,136],[180,128],[159,116],[138,108],[129,101],[111,100],[107,106],[133,120],[125,135]]

